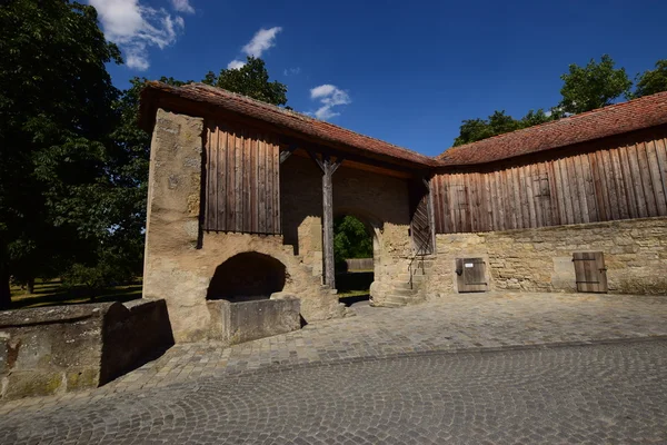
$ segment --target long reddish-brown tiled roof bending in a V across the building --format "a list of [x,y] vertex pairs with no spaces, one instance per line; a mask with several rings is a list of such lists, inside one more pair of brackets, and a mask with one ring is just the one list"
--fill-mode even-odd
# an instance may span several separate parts
[[195,105],[211,105],[310,136],[322,142],[342,145],[347,150],[359,155],[407,161],[418,168],[487,164],[667,123],[667,92],[660,92],[478,142],[452,147],[437,158],[430,158],[329,122],[203,83],[171,87],[157,81],[147,82],[141,92],[141,118],[147,127],[149,125],[146,122],[155,119],[155,107],[161,106],[160,98],[165,97],[178,97]]

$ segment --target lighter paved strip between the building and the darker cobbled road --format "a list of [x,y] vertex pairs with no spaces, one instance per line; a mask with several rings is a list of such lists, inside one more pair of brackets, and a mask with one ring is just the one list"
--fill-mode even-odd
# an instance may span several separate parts
[[231,348],[216,344],[178,345],[101,388],[0,403],[0,414],[260,368],[425,352],[667,336],[667,297],[468,294],[397,309],[361,306],[357,312],[356,317],[316,323],[295,333]]

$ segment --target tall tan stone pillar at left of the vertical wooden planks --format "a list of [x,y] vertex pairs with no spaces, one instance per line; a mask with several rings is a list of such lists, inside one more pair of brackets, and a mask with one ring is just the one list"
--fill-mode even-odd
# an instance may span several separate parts
[[165,298],[177,342],[206,338],[208,280],[189,271],[199,241],[203,119],[159,109],[150,150],[143,298]]

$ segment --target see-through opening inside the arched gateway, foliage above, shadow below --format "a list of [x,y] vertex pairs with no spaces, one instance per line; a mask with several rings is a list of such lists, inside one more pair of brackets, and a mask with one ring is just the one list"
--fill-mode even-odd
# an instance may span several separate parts
[[375,279],[372,228],[352,215],[334,219],[334,258],[339,300],[350,306],[370,298]]

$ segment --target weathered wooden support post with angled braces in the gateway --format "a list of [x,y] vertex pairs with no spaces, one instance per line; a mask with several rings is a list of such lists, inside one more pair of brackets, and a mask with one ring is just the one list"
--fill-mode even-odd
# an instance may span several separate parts
[[308,151],[312,160],[322,170],[322,259],[325,261],[325,284],[336,288],[336,270],[334,268],[334,172],[342,164],[342,158],[331,161],[327,154],[321,159]]

